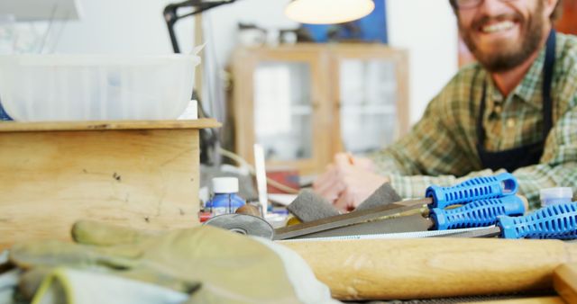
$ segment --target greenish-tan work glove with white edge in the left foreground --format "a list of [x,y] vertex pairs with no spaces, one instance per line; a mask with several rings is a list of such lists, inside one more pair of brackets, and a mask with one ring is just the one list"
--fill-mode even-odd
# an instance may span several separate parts
[[[23,275],[23,291],[35,293],[52,268],[67,267],[190,294],[187,303],[336,302],[294,252],[220,228],[154,234],[82,221],[72,235],[77,244],[45,241],[12,248],[11,262],[33,270]],[[286,266],[289,260],[297,272]]]

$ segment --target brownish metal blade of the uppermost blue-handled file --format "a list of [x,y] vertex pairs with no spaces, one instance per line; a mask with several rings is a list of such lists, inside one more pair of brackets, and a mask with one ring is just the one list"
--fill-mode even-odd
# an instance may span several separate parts
[[343,228],[354,224],[382,219],[408,210],[420,209],[432,202],[431,198],[397,201],[388,205],[378,206],[367,210],[357,210],[347,214],[340,214],[325,219],[316,219],[306,223],[275,229],[274,239],[287,239],[305,236],[311,233],[334,228]]

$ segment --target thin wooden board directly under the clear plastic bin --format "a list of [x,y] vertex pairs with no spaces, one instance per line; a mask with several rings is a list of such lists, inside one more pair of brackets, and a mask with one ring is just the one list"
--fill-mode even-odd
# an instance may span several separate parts
[[55,131],[55,130],[164,130],[217,128],[215,119],[191,121],[52,121],[0,123],[0,132]]

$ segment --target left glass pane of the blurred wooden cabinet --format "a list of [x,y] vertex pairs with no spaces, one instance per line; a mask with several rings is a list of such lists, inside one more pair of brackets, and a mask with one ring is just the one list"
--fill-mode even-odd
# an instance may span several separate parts
[[311,72],[305,62],[260,62],[253,74],[255,142],[267,161],[312,158]]

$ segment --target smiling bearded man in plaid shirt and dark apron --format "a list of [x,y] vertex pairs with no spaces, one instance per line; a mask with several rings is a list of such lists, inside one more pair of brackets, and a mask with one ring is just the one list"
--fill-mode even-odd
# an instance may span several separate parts
[[398,142],[370,158],[339,154],[313,188],[353,210],[382,183],[405,198],[430,184],[507,170],[539,190],[577,190],[577,39],[556,33],[557,0],[450,0],[478,63],[462,67]]

